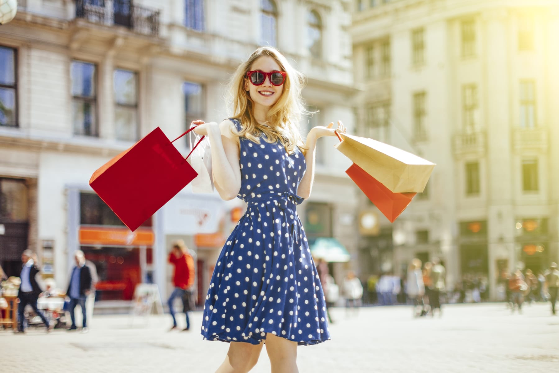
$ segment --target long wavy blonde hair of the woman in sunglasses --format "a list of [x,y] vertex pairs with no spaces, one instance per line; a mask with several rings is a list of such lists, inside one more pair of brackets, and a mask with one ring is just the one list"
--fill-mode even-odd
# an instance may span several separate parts
[[[261,56],[272,57],[280,65],[280,68],[287,73],[283,83],[282,95],[266,115],[266,125],[259,124],[254,119],[254,102],[244,89],[245,79],[247,79],[250,67]],[[303,105],[301,96],[304,85],[305,76],[294,69],[276,48],[262,46],[255,50],[247,61],[239,65],[228,83],[229,99],[233,106],[231,117],[238,119],[242,125],[242,129],[237,134],[245,136],[257,144],[260,143],[260,134],[264,134],[268,143],[280,141],[287,153],[293,153],[297,146],[306,150],[299,133],[301,116],[309,114],[309,111]]]

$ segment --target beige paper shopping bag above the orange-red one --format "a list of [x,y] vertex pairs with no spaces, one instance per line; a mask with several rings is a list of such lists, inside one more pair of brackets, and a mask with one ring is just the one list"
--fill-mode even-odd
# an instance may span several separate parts
[[435,164],[373,139],[336,131],[335,148],[395,193],[423,192]]

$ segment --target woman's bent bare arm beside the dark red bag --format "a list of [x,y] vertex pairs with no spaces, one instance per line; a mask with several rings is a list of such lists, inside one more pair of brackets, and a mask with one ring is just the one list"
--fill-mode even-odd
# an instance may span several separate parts
[[[201,122],[201,124],[200,124]],[[212,176],[220,197],[232,200],[241,188],[239,166],[239,136],[233,133],[233,123],[229,120],[203,123],[194,130],[198,135],[207,135],[211,145]]]

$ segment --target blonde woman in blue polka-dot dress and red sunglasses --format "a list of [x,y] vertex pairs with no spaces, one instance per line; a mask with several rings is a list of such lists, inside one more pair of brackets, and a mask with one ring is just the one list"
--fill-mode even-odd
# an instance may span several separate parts
[[264,342],[273,373],[297,372],[297,346],[330,339],[296,205],[311,193],[316,140],[335,133],[330,123],[301,138],[303,83],[277,49],[259,48],[230,80],[231,118],[193,122],[209,136],[216,190],[248,205],[217,259],[203,313],[202,336],[230,342],[217,372],[248,372]]

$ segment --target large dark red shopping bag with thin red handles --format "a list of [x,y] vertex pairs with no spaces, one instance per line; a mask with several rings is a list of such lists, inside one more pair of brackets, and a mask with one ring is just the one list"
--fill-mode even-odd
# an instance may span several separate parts
[[197,176],[173,141],[158,127],[105,163],[89,180],[93,190],[132,231]]

